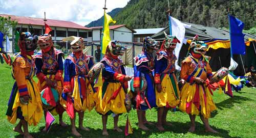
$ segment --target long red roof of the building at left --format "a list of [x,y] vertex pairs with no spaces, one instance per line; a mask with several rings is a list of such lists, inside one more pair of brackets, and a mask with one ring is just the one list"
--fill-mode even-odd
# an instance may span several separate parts
[[[18,24],[32,24],[32,25],[41,25],[41,26],[45,25],[44,19],[42,19],[42,18],[14,16],[14,15],[7,15],[7,14],[0,14],[0,16],[3,16],[3,17],[10,16],[11,19],[16,20],[18,22]],[[90,30],[88,27],[84,27],[84,26],[76,24],[72,21],[47,19],[46,23],[49,26]]]

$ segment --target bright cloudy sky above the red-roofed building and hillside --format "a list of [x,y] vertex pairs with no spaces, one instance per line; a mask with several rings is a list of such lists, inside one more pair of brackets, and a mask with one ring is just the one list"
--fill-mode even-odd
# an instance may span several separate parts
[[[107,0],[106,12],[124,7],[130,0]],[[0,0],[0,14],[73,21],[87,25],[103,16],[104,0]]]

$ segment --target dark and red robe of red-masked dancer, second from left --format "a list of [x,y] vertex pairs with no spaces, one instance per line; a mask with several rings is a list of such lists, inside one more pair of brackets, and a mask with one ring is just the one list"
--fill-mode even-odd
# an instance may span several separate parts
[[[38,87],[39,90],[44,90],[47,86],[46,84],[46,78],[51,79],[52,81],[57,81],[57,87],[54,88],[58,91],[58,95],[60,97],[62,93],[63,88],[63,62],[62,58],[64,58],[64,53],[60,50],[57,50],[55,48],[52,48],[49,52],[42,52],[41,50],[36,53],[34,56],[35,60],[35,66],[36,66],[36,76],[39,79],[38,81]],[[48,89],[49,90],[49,89]],[[56,112],[53,110],[53,108],[48,108],[49,111],[52,111],[51,113],[56,115],[62,114],[65,110],[62,108],[59,103],[56,103],[54,100],[54,96],[51,93],[51,91],[45,90],[44,95],[42,95],[43,98],[45,98],[49,105],[52,107],[57,107]]]

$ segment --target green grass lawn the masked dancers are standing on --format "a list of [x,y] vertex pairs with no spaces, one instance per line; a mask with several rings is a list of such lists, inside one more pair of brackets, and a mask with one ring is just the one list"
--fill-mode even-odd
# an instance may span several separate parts
[[[10,124],[5,116],[7,103],[11,93],[14,80],[11,77],[11,67],[6,64],[0,64],[0,137],[23,137],[12,131],[14,127]],[[37,79],[36,79],[37,81]],[[234,92],[234,97],[214,93],[214,101],[218,107],[218,111],[211,114],[209,119],[210,125],[219,131],[219,134],[204,132],[204,126],[197,117],[197,127],[195,133],[187,132],[189,128],[189,117],[181,112],[169,112],[167,120],[172,122],[174,126],[165,127],[166,131],[159,132],[155,126],[148,126],[150,131],[142,131],[137,127],[136,111],[131,111],[129,118],[134,129],[134,133],[127,137],[256,137],[256,89],[244,88],[241,92]],[[146,112],[148,121],[157,121],[156,109]],[[29,131],[34,137],[73,137],[71,135],[70,120],[65,112],[64,121],[68,127],[60,127],[58,125],[58,117],[53,124],[49,133],[42,133],[40,130],[44,127],[45,121],[41,119],[37,126],[30,126]],[[78,120],[78,119],[77,119]],[[124,129],[126,117],[124,115],[119,118],[119,125]],[[78,122],[77,122],[78,124]],[[86,112],[84,115],[84,126],[89,127],[90,131],[78,130],[83,137],[103,137],[101,136],[101,116],[94,110]],[[108,137],[124,137],[124,133],[113,131],[113,118],[109,116],[108,120]]]

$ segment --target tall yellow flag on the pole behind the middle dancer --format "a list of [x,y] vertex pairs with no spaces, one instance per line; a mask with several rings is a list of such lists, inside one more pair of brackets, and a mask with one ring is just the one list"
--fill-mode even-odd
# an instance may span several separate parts
[[109,24],[113,22],[116,23],[115,20],[112,19],[112,17],[106,12],[104,12],[104,28],[103,28],[103,38],[102,38],[102,53],[105,53],[106,46],[108,46],[109,42],[111,41],[110,38],[110,28]]

